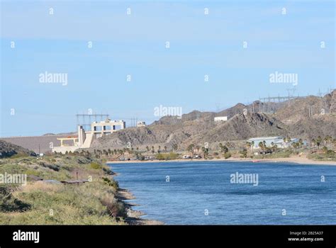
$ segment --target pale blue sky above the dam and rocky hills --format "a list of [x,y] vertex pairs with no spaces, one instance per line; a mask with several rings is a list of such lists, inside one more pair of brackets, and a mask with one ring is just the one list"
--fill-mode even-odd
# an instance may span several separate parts
[[287,96],[274,72],[301,96],[335,88],[335,1],[0,1],[0,137],[73,131],[90,109],[151,123],[160,105]]

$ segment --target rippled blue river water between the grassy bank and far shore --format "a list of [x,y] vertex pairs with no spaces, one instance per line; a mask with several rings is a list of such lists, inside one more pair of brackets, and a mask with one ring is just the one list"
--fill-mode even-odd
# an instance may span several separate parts
[[[274,162],[109,164],[142,218],[167,225],[335,225],[336,167]],[[249,180],[250,179],[250,180]],[[253,180],[252,180],[253,179]]]

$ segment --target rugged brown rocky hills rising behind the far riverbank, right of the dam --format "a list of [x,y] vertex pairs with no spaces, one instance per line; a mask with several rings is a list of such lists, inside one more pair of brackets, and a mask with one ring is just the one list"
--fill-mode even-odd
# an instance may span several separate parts
[[[308,96],[282,103],[254,101],[238,103],[218,113],[192,111],[177,116],[164,116],[144,128],[127,128],[95,140],[93,147],[133,147],[162,145],[187,147],[203,142],[246,140],[250,137],[289,135],[311,139],[317,136],[336,137],[336,91],[324,97]],[[267,106],[268,104],[268,106]],[[244,110],[247,113],[244,114]],[[270,112],[263,113],[267,109]],[[254,112],[253,112],[254,110]],[[228,116],[225,122],[215,122],[215,116]]]

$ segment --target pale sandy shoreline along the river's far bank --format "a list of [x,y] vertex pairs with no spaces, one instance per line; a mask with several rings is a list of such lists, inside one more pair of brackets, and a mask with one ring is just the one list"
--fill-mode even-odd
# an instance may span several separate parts
[[272,159],[243,159],[243,158],[229,158],[229,159],[171,159],[171,160],[128,160],[128,161],[119,161],[111,160],[107,161],[106,164],[141,164],[141,163],[161,163],[161,162],[290,162],[296,164],[313,164],[313,165],[331,165],[336,166],[334,161],[315,161],[308,159],[307,157],[283,157],[283,158],[272,158]]

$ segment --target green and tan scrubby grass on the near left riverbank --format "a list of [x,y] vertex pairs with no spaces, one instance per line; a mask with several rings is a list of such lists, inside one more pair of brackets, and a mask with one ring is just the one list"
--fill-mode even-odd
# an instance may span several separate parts
[[[26,186],[8,186],[6,196],[9,198],[3,201],[4,197],[0,196],[0,205],[11,207],[9,204],[13,204],[13,207],[6,212],[0,210],[0,224],[125,225],[125,208],[116,198],[116,186],[103,179],[111,176],[102,165],[93,169],[91,162],[92,159],[79,156],[60,155],[45,157],[43,163],[35,158],[1,159],[0,173],[20,172],[53,180],[76,179],[77,176],[78,179],[87,179],[91,176],[93,180],[79,185],[29,181]],[[59,167],[59,171],[52,169],[54,166]],[[28,207],[20,211],[23,208],[18,203]]]

